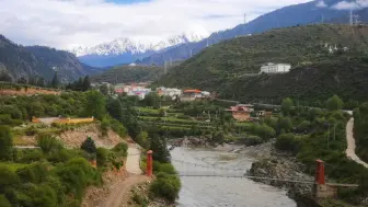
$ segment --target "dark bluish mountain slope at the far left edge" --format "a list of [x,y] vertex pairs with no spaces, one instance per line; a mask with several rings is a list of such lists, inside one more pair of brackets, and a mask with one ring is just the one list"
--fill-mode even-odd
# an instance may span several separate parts
[[81,64],[68,51],[43,46],[23,47],[0,35],[0,69],[13,79],[21,77],[43,77],[50,80],[58,71],[64,82],[99,72],[97,69]]

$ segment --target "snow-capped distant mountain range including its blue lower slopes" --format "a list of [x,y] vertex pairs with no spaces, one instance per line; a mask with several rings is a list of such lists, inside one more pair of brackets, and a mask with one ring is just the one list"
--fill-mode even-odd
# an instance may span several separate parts
[[119,38],[110,43],[103,43],[94,47],[78,47],[71,50],[79,59],[90,66],[108,67],[122,64],[130,64],[137,59],[148,57],[154,53],[176,47],[181,44],[198,42],[208,36],[203,33],[189,32],[172,36],[158,43],[140,42],[129,38]]

